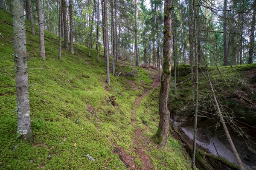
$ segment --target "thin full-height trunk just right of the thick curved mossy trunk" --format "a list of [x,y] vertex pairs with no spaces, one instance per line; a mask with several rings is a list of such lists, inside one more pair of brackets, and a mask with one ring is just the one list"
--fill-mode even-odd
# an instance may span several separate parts
[[195,32],[195,118],[194,118],[194,138],[193,138],[193,153],[192,153],[192,169],[195,169],[195,146],[196,146],[196,133],[197,133],[197,117],[198,117],[198,48],[197,48],[197,32],[196,32],[196,16],[197,11],[193,0],[194,9],[194,32]]

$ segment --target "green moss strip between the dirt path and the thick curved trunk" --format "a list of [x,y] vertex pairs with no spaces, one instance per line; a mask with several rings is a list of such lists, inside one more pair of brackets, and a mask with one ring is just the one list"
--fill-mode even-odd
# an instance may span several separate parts
[[[136,120],[138,127],[145,133],[144,136],[153,140],[159,134],[159,88],[154,88],[145,98],[140,102],[140,106],[136,110]],[[159,136],[159,135],[158,135]],[[156,141],[160,143],[160,141]],[[186,154],[186,150],[180,147],[177,140],[172,136],[168,137],[166,147],[164,150],[156,148],[154,142],[149,145],[150,151],[147,151],[152,160],[155,170],[186,170],[190,168],[191,160]]]

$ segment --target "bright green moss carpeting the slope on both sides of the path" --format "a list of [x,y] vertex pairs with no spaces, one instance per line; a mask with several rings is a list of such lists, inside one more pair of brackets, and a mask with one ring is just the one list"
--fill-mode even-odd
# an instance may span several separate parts
[[[0,16],[0,20],[12,23],[11,15],[5,11],[0,10]],[[28,21],[26,25],[29,26]],[[0,22],[0,33],[12,41],[12,26]],[[48,31],[44,33],[58,39]],[[0,39],[0,85],[14,86],[13,44],[5,40]],[[127,169],[113,150],[117,145],[129,153],[134,147],[131,111],[134,100],[152,84],[152,76],[143,68],[119,65],[117,72],[135,70],[136,76],[111,75],[108,87],[102,54],[98,63],[96,50],[88,58],[88,48],[75,44],[75,55],[62,49],[59,62],[58,40],[45,38],[45,61],[36,55],[38,40],[38,35],[26,32],[32,119],[29,141],[23,141],[16,133],[15,87],[0,87],[0,169]],[[157,94],[155,89],[143,99],[137,112],[139,125],[147,126],[149,136],[157,128]],[[155,169],[189,167],[189,159],[174,139],[169,138],[165,150],[152,146],[148,154]],[[141,164],[140,158],[135,161]]]

